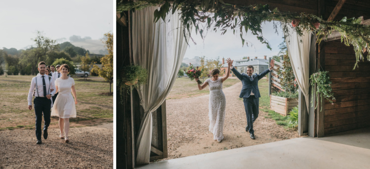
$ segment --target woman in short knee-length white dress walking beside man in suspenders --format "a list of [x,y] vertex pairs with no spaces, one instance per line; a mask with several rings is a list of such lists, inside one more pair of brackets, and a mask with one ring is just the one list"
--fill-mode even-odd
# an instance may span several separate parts
[[[69,131],[69,118],[76,117],[76,90],[75,90],[75,80],[68,77],[70,71],[69,66],[64,64],[59,68],[61,70],[62,76],[55,79],[56,92],[59,92],[55,99],[54,105],[51,109],[51,116],[59,117],[59,138],[65,139],[65,142],[69,142],[68,131]],[[74,97],[72,97],[71,95]],[[63,126],[64,133],[63,135]]]

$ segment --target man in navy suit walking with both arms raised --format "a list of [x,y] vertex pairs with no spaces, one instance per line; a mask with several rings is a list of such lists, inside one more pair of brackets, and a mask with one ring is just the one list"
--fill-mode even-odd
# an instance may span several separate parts
[[266,69],[260,74],[253,74],[253,66],[247,66],[247,74],[239,73],[232,65],[231,71],[236,75],[236,77],[241,80],[243,86],[239,97],[243,98],[245,114],[247,115],[247,126],[245,131],[250,133],[250,138],[255,139],[253,123],[258,117],[259,113],[259,101],[260,101],[260,91],[258,90],[258,80],[262,79],[267,73],[269,73],[275,65],[275,61],[271,60],[270,68]]

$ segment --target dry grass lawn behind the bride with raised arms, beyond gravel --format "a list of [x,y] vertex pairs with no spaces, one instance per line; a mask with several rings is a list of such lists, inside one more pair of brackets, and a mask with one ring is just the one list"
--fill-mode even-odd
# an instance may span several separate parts
[[[200,81],[205,81],[207,78],[200,79]],[[235,83],[240,82],[239,79],[236,77],[230,77],[226,81],[223,82],[223,89],[234,85]],[[178,77],[175,81],[174,86],[171,89],[170,94],[167,96],[167,100],[169,99],[183,99],[183,98],[191,98],[197,97],[202,95],[209,94],[208,86],[203,90],[199,90],[197,83],[195,80],[190,80],[187,77]]]

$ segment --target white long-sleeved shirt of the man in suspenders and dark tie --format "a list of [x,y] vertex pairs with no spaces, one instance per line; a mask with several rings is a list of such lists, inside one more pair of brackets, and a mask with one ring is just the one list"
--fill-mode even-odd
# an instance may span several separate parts
[[[37,90],[35,92],[35,97],[44,97],[44,86],[43,86],[43,75],[37,74],[36,77],[33,77],[31,80],[31,87],[30,90],[28,91],[28,105],[32,105],[32,96],[34,93],[34,90],[36,88],[36,78],[37,78]],[[54,96],[55,94],[55,84],[54,84],[54,79],[51,76],[48,76],[44,74],[45,78],[45,84],[46,84],[46,95],[51,95]],[[52,92],[50,92],[50,89],[54,89]]]

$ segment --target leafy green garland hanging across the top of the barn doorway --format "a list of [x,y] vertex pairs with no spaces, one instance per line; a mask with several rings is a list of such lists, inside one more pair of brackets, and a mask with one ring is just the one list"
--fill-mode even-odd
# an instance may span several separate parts
[[[339,32],[342,42],[354,47],[355,68],[360,60],[364,60],[364,53],[370,51],[370,25],[361,25],[362,17],[349,19],[344,17],[340,21],[325,21],[313,14],[281,12],[277,8],[270,10],[267,4],[233,5],[223,0],[117,0],[117,12],[135,11],[147,6],[160,6],[160,9],[154,12],[155,21],[165,20],[168,12],[175,13],[179,10],[184,35],[190,34],[191,27],[194,27],[195,33],[200,34],[202,38],[205,31],[221,31],[221,34],[225,34],[230,28],[233,34],[240,34],[242,45],[248,46],[243,35],[250,31],[271,50],[270,43],[262,34],[261,25],[266,21],[280,21],[291,23],[291,27],[295,27],[299,35],[302,35],[303,30],[316,31],[317,43],[327,38],[327,35],[333,31]],[[277,27],[281,26],[283,32],[287,33],[287,25],[280,22],[274,22],[274,29],[277,32]],[[191,36],[189,38],[192,39]],[[370,61],[370,53],[367,54],[367,59]]]

